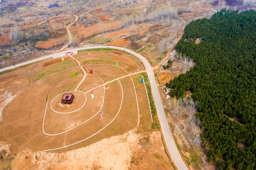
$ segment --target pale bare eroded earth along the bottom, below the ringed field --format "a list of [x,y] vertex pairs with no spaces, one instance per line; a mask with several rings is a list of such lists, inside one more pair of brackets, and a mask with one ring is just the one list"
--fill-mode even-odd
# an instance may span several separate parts
[[172,169],[168,163],[159,132],[138,135],[130,130],[65,153],[23,150],[13,169]]

